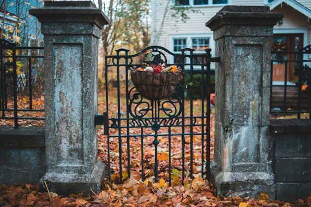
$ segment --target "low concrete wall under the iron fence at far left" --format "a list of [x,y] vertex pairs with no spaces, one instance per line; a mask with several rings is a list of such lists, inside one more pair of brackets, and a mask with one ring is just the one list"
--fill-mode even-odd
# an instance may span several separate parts
[[36,184],[44,173],[44,128],[0,127],[0,184]]

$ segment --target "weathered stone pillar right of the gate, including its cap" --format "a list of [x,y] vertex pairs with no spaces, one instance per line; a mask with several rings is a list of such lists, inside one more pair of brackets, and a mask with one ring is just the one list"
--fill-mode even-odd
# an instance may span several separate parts
[[211,180],[218,194],[275,196],[269,138],[270,51],[283,17],[269,6],[225,6],[206,26],[214,31],[216,110]]

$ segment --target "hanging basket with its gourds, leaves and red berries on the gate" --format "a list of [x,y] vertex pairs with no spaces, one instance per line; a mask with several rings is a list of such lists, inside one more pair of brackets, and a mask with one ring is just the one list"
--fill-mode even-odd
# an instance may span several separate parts
[[131,79],[144,98],[158,101],[167,99],[174,92],[182,79],[182,73],[176,65],[153,64],[156,62],[154,59],[155,56],[149,52],[142,66],[131,70]]

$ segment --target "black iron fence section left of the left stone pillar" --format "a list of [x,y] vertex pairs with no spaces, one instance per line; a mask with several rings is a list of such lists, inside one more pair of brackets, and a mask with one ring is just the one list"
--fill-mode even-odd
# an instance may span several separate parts
[[0,119],[43,120],[33,116],[43,112],[33,105],[34,96],[43,95],[43,47],[18,47],[0,39]]

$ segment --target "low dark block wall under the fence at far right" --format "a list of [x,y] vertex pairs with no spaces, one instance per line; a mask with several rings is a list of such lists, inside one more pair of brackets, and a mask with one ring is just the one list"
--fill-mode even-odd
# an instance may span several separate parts
[[[296,201],[311,195],[310,120],[272,120],[276,199]],[[298,125],[299,124],[299,125]]]

